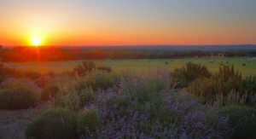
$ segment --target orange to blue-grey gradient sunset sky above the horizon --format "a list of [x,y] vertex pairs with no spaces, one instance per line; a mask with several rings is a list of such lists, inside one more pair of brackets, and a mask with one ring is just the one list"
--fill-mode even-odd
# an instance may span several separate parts
[[256,43],[256,0],[0,0],[0,44]]

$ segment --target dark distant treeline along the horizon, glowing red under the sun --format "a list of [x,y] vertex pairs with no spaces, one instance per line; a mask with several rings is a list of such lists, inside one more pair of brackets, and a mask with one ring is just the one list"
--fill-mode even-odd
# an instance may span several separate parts
[[55,47],[15,47],[3,49],[0,47],[2,61],[65,61],[84,59],[166,59],[182,57],[204,57],[224,55],[255,56],[256,51],[203,51],[203,50],[173,50],[173,49],[65,49]]

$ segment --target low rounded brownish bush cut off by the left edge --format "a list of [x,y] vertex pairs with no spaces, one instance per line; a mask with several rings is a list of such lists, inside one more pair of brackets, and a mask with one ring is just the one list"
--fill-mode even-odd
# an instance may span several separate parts
[[23,109],[34,107],[39,96],[24,86],[0,90],[0,109]]

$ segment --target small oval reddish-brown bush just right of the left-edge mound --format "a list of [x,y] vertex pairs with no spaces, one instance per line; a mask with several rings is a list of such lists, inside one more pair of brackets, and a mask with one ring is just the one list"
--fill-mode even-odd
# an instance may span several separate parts
[[57,85],[51,85],[49,87],[46,87],[41,93],[41,99],[43,101],[49,101],[50,98],[56,96],[59,90],[60,88]]

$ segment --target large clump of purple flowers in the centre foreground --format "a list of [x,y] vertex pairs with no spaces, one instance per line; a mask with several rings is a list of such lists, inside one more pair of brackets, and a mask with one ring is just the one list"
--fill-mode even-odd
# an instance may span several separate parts
[[163,84],[167,73],[159,73],[125,72],[117,86],[99,93],[101,125],[84,138],[225,138],[230,133],[227,118],[188,93],[171,90]]

